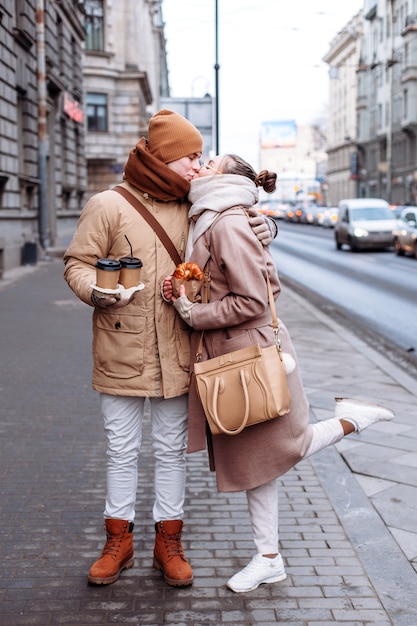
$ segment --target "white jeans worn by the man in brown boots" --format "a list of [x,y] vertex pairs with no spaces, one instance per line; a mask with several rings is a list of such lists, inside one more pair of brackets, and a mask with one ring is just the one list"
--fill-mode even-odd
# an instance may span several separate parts
[[[139,451],[145,401],[151,405],[155,458],[153,518],[182,519],[185,498],[188,397],[137,398],[101,394],[107,436],[105,518],[135,518]],[[147,485],[143,485],[146,490]]]

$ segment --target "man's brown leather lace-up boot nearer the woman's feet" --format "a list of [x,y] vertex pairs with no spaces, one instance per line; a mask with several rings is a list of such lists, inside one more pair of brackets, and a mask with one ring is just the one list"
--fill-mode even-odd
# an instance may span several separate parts
[[155,524],[153,566],[160,569],[172,587],[193,583],[193,570],[184,556],[181,544],[182,520],[165,520]]

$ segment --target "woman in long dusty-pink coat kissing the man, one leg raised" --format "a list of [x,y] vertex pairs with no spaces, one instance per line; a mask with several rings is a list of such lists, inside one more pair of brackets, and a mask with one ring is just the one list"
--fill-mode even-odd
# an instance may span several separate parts
[[[208,178],[210,176],[210,178]],[[210,301],[191,303],[171,297],[181,317],[194,328],[191,354],[204,330],[203,359],[259,343],[274,342],[268,305],[266,274],[274,297],[280,283],[274,262],[253,236],[247,208],[258,200],[258,187],[275,189],[276,174],[253,168],[235,155],[217,156],[204,164],[191,182],[191,230],[186,260],[210,271]],[[165,286],[165,295],[170,294]],[[203,297],[204,302],[204,297]],[[282,350],[296,363],[296,355],[281,323]],[[348,398],[337,399],[335,417],[309,423],[309,405],[298,367],[288,374],[291,406],[287,415],[262,422],[239,435],[207,436],[211,467],[219,491],[245,490],[257,554],[227,586],[235,592],[256,589],[261,583],[286,578],[278,550],[277,478],[311,454],[352,432],[390,420],[390,409]],[[206,421],[194,385],[190,387],[188,451],[205,447]]]

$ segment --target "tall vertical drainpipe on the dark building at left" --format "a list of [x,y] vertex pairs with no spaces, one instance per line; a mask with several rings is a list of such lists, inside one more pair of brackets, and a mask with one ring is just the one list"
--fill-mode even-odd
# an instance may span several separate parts
[[46,63],[45,63],[45,6],[36,0],[36,49],[38,62],[38,175],[39,175],[39,234],[45,250],[50,246],[47,203],[47,128],[46,128]]

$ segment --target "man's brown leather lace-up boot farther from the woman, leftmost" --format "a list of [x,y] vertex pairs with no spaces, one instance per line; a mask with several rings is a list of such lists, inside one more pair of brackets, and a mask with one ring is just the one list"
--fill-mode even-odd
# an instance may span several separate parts
[[106,519],[107,541],[100,558],[88,573],[88,582],[110,585],[116,582],[124,569],[133,567],[133,522]]

